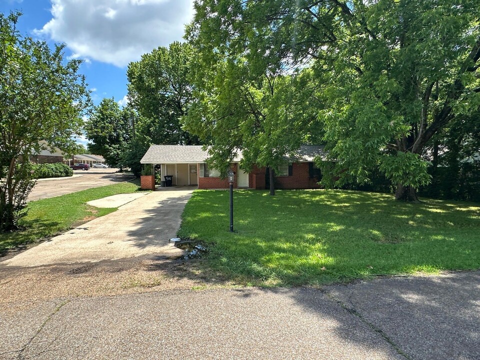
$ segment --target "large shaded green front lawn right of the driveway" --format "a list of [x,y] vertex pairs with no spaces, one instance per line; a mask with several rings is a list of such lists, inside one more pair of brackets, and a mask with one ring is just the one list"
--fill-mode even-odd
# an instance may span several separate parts
[[480,204],[341,190],[198,190],[178,236],[206,265],[248,285],[318,285],[378,275],[480,268]]

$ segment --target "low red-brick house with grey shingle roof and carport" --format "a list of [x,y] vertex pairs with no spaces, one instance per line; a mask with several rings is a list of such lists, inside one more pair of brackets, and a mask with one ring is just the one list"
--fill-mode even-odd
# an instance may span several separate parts
[[[275,188],[307,189],[318,188],[321,170],[313,159],[326,160],[320,145],[301,145],[291,158],[275,170]],[[208,168],[205,160],[207,151],[201,145],[151,145],[141,158],[141,164],[160,167],[160,173],[172,176],[173,185],[198,186],[200,189],[228,188],[228,180],[221,178],[216,169]],[[241,155],[233,159],[231,169],[235,173],[235,188],[265,189],[269,186],[268,168],[254,167],[250,172],[239,166]]]

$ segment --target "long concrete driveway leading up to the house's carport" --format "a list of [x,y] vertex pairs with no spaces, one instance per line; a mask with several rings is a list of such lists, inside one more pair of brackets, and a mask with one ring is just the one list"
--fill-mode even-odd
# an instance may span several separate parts
[[168,242],[193,189],[154,191],[15,257],[7,266],[41,266],[183,252]]

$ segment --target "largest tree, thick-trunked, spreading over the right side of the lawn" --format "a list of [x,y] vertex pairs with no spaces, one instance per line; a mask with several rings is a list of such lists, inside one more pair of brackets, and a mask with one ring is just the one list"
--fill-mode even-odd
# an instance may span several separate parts
[[195,9],[191,36],[209,37],[215,53],[312,66],[337,185],[379,167],[397,199],[416,199],[429,180],[425,146],[478,104],[476,0],[200,0]]

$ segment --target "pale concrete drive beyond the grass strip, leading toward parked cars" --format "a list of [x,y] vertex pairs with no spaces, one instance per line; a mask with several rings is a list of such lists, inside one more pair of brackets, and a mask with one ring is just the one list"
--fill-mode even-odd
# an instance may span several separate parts
[[28,195],[28,201],[59,196],[91,187],[111,185],[134,178],[129,173],[116,173],[117,170],[116,168],[90,168],[89,170],[73,170],[74,177],[40,179]]

